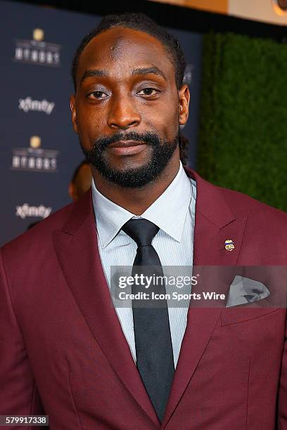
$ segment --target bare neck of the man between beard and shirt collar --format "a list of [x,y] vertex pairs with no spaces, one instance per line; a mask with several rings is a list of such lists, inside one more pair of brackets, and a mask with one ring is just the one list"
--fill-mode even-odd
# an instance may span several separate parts
[[141,215],[155,200],[164,193],[179,171],[179,159],[171,159],[155,181],[141,188],[127,188],[111,183],[92,167],[96,188],[107,199],[127,209],[135,215]]

